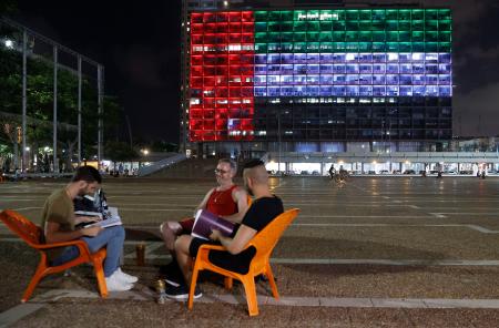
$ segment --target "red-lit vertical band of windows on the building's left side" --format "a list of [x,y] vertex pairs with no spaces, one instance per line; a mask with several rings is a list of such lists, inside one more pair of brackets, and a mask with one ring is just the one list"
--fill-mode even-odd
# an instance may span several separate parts
[[193,13],[191,25],[191,141],[252,140],[253,12]]

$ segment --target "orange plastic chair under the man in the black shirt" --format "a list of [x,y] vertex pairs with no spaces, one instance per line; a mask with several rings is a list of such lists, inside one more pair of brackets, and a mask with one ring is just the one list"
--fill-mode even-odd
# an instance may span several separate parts
[[272,288],[272,295],[275,299],[279,298],[277,286],[275,285],[274,274],[271,269],[271,254],[283,235],[286,227],[296,218],[299,209],[293,208],[284,212],[274,218],[263,230],[257,233],[255,237],[247,244],[246,248],[254,246],[256,254],[249,264],[249,270],[246,275],[230,271],[215,266],[208,259],[210,252],[226,250],[225,247],[218,245],[202,245],[197,252],[194,269],[192,273],[191,288],[189,291],[187,307],[192,310],[194,300],[194,289],[196,287],[197,276],[201,270],[211,270],[225,276],[225,288],[232,289],[233,279],[240,280],[246,293],[247,308],[249,316],[258,315],[258,303],[256,298],[255,276],[265,275]]

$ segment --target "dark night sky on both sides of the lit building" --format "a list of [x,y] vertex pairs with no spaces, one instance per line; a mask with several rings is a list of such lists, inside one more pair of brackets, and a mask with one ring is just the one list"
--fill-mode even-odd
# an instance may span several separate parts
[[[499,1],[420,2],[454,10],[454,134],[499,135]],[[18,3],[16,20],[104,64],[134,139],[179,141],[180,0]]]

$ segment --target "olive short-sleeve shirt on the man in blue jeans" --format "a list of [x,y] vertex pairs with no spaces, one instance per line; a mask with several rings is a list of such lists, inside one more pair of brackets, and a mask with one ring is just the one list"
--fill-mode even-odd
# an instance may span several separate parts
[[[65,192],[65,188],[53,192],[49,198],[47,198],[42,211],[42,229],[45,228],[47,222],[58,223],[61,232],[74,230],[74,206],[73,201]],[[57,248],[49,252],[49,259],[52,260],[61,252],[61,248]]]

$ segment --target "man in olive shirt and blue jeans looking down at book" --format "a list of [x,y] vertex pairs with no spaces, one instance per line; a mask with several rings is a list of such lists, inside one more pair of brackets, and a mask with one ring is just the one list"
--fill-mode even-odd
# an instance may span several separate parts
[[[47,243],[61,243],[74,239],[83,240],[91,253],[102,247],[106,248],[104,259],[104,276],[109,291],[129,290],[133,287],[136,277],[130,276],[120,269],[120,256],[123,249],[125,232],[123,226],[102,228],[92,226],[75,229],[74,226],[101,219],[98,216],[75,216],[73,199],[77,196],[93,195],[102,182],[99,171],[92,166],[81,166],[74,173],[71,182],[53,192],[45,201],[42,213],[43,236]],[[77,246],[53,249],[49,260],[61,265],[79,256]]]

